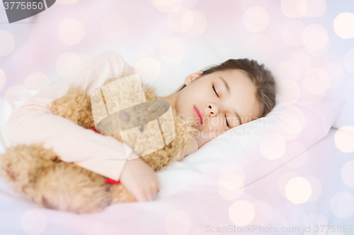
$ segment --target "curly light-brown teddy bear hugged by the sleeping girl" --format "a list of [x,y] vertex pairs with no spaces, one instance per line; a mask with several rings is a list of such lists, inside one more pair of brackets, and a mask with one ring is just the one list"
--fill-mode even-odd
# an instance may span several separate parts
[[[121,76],[112,76],[105,81],[105,92],[110,92],[112,95],[111,97],[105,96],[105,107],[108,102],[115,102],[114,99],[117,97],[114,95],[117,94],[130,95],[130,99],[134,101],[138,99],[134,94],[142,89],[149,103],[151,116],[147,112],[146,105],[143,104],[123,109],[114,114],[115,120],[120,122],[119,131],[111,130],[110,122],[114,120],[112,118],[95,123],[95,116],[97,118],[101,114],[92,109],[95,101],[94,95],[90,97],[84,90],[74,85],[69,86],[64,96],[50,104],[50,111],[84,128],[96,131],[97,134],[113,136],[121,142],[123,142],[122,133],[130,130],[124,135],[124,143],[130,145],[154,171],[166,169],[172,162],[181,161],[191,151],[195,151],[196,141],[193,138],[193,132],[196,129],[183,120],[175,109],[171,109],[169,102],[159,100],[152,86],[140,83],[140,88],[135,85],[130,86],[129,89],[122,87],[118,89],[111,85],[119,79],[129,78],[130,75],[125,72]],[[165,119],[161,118],[161,114],[166,114]],[[165,134],[165,145],[162,147],[162,131],[157,134],[152,126],[142,125],[148,121],[152,123],[151,121],[159,116],[159,126]],[[148,136],[149,143],[147,143],[147,138],[136,138],[137,135],[134,135],[132,130],[141,132],[139,134],[142,136]],[[4,154],[0,155],[0,176],[10,184],[14,191],[25,195],[25,198],[36,205],[52,210],[83,214],[101,212],[105,207],[115,203],[136,201],[119,181],[108,183],[110,179],[105,176],[79,167],[74,162],[64,162],[52,149],[46,149],[42,145],[43,143],[35,143],[7,147]],[[144,155],[142,146],[152,147],[152,150]]]

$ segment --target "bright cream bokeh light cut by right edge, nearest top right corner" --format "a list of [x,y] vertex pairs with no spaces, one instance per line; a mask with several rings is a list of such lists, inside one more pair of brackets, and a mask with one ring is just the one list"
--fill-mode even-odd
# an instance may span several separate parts
[[354,14],[351,12],[340,13],[333,20],[333,28],[334,32],[343,39],[354,37]]

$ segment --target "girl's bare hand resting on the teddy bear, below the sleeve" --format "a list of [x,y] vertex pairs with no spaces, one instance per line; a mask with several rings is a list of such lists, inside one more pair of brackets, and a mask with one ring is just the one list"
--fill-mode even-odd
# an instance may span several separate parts
[[159,179],[155,171],[135,152],[125,164],[120,182],[139,202],[155,200],[159,191]]

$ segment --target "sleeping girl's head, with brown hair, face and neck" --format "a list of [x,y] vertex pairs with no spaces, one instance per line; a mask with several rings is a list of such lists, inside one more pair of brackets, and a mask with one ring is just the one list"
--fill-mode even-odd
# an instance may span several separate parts
[[227,130],[268,114],[275,106],[272,73],[249,59],[229,59],[192,73],[168,97],[160,97],[198,129],[198,148]]

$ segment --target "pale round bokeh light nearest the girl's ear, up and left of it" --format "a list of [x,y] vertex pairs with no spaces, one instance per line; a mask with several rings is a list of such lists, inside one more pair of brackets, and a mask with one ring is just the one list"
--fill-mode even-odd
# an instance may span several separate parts
[[184,43],[177,37],[165,38],[159,45],[159,55],[166,63],[181,61],[185,55]]

